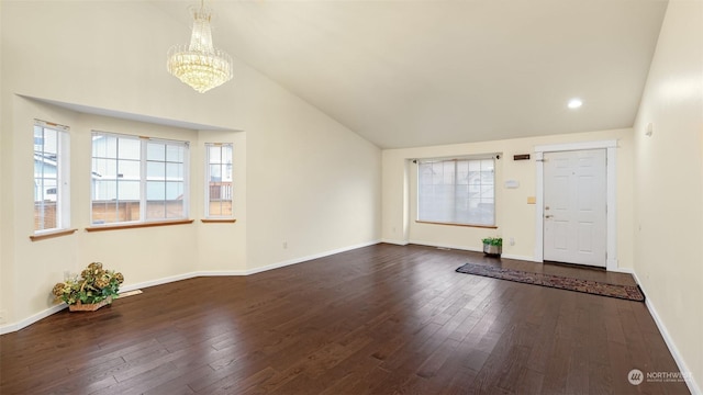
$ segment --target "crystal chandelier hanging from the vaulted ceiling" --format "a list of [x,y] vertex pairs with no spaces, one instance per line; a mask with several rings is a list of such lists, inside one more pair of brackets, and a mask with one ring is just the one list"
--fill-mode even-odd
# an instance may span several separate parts
[[192,7],[193,31],[190,45],[175,45],[168,50],[168,72],[200,93],[232,79],[232,57],[212,45],[211,10],[201,0]]

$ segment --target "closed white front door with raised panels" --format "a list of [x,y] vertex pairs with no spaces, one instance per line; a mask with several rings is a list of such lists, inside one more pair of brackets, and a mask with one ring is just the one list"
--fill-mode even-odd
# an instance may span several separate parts
[[544,155],[544,259],[605,267],[606,150]]

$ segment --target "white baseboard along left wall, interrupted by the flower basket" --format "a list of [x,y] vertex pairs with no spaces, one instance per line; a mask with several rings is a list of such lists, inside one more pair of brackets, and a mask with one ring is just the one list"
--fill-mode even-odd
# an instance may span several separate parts
[[[168,284],[168,283],[172,283],[172,282],[176,282],[176,281],[193,279],[193,278],[197,278],[197,276],[207,276],[207,275],[250,275],[250,274],[265,272],[265,271],[268,271],[268,270],[283,268],[283,267],[295,264],[295,263],[302,263],[302,262],[305,262],[305,261],[309,261],[309,260],[313,260],[313,259],[317,259],[317,258],[328,257],[328,256],[332,256],[332,255],[335,255],[335,253],[339,253],[339,252],[350,251],[350,250],[354,250],[354,249],[357,249],[357,248],[373,246],[373,245],[377,245],[379,242],[380,241],[378,241],[378,240],[369,241],[369,242],[362,242],[362,244],[359,244],[359,245],[356,245],[356,246],[338,248],[338,249],[334,249],[334,250],[330,250],[330,251],[314,253],[314,255],[311,255],[311,256],[308,256],[308,257],[295,258],[295,259],[291,259],[291,260],[287,260],[287,261],[282,261],[282,262],[278,262],[278,263],[268,264],[268,266],[260,267],[260,268],[248,269],[248,270],[198,271],[198,272],[190,272],[190,273],[170,275],[170,276],[163,278],[163,279],[144,281],[144,282],[141,282],[141,283],[135,283],[135,284],[126,284],[126,285],[122,286],[120,289],[120,291],[122,291],[122,292],[134,291],[134,290],[140,290],[140,289],[155,286],[155,285]],[[40,319],[46,318],[46,317],[51,316],[52,314],[58,313],[58,312],[63,311],[66,307],[68,307],[68,306],[65,303],[60,303],[60,304],[52,306],[52,307],[49,307],[49,308],[47,308],[47,309],[45,309],[43,312],[34,314],[34,315],[32,315],[32,316],[30,316],[27,318],[24,318],[19,323],[2,325],[2,326],[0,326],[0,335],[18,331],[18,330],[20,330],[22,328],[25,328],[25,327],[38,321]]]

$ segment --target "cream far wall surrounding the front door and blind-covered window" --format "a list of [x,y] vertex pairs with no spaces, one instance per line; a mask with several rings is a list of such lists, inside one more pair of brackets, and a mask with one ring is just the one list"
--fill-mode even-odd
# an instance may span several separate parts
[[[389,149],[383,151],[382,239],[388,242],[419,242],[480,251],[481,238],[503,237],[503,256],[534,260],[535,205],[527,204],[536,196],[535,146],[616,139],[617,148],[617,260],[623,270],[633,267],[632,241],[632,129],[603,131],[569,135],[457,144],[447,146]],[[416,195],[414,158],[450,157],[461,155],[501,154],[496,160],[496,225],[498,229],[415,223]],[[531,160],[513,160],[513,155],[531,154]],[[517,189],[506,189],[505,180],[520,182]],[[404,225],[406,224],[406,225]],[[511,246],[510,238],[515,240]]]

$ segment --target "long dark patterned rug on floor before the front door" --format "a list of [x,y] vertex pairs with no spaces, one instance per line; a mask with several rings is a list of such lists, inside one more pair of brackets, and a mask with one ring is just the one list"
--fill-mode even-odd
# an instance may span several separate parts
[[525,284],[549,286],[559,290],[583,292],[592,295],[617,297],[628,301],[645,302],[645,294],[639,285],[609,284],[600,281],[581,280],[555,274],[526,272],[515,269],[498,268],[489,264],[466,263],[457,269],[459,273],[482,275],[500,280],[509,280]]

